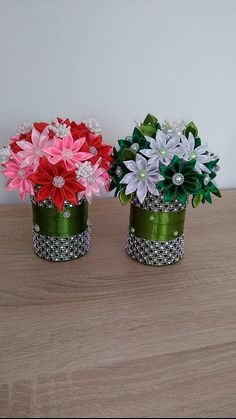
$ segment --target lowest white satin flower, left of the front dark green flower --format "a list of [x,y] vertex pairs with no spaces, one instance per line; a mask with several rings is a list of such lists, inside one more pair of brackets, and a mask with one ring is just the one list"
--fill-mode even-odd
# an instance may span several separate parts
[[129,195],[136,191],[139,202],[143,202],[147,192],[153,195],[159,195],[156,184],[163,179],[157,172],[156,164],[146,160],[140,154],[136,155],[136,160],[126,160],[123,162],[130,170],[121,183],[127,184],[125,194]]

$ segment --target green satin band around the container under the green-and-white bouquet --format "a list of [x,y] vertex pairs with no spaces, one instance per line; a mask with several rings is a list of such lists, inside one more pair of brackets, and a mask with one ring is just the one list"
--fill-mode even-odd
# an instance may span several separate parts
[[175,212],[147,211],[131,204],[130,229],[135,236],[146,240],[168,241],[184,231],[185,209]]

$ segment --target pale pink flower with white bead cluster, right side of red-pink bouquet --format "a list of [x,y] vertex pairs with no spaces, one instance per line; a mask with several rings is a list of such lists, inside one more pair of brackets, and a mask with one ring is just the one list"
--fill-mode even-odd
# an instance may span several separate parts
[[99,167],[101,159],[94,165],[89,161],[77,164],[76,177],[85,191],[79,193],[79,199],[86,197],[91,204],[93,195],[101,196],[102,188],[109,183],[106,169]]

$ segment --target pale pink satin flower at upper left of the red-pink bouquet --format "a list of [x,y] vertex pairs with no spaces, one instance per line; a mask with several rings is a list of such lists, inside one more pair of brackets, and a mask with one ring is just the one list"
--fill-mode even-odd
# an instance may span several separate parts
[[49,157],[49,147],[52,140],[48,138],[47,128],[40,134],[35,128],[31,134],[32,143],[29,141],[17,141],[17,145],[22,149],[17,155],[22,159],[21,167],[32,166],[35,171],[39,165],[41,157]]

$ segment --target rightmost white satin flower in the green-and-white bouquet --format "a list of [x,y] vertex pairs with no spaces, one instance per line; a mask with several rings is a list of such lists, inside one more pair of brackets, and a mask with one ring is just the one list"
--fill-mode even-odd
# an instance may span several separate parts
[[181,135],[180,148],[182,150],[184,160],[196,160],[194,167],[196,172],[211,173],[211,171],[205,166],[205,163],[209,163],[210,161],[215,160],[215,157],[207,153],[207,144],[200,145],[195,148],[195,138],[190,132],[188,138],[186,138],[184,135]]

